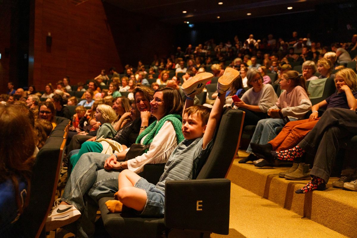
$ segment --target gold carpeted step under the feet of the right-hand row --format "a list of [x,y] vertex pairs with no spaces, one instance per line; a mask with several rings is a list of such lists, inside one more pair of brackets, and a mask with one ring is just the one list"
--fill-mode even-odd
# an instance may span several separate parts
[[330,178],[325,191],[296,194],[308,181],[279,178],[278,173],[288,168],[257,168],[239,160],[235,159],[227,177],[232,183],[338,233],[356,237],[357,192],[332,187],[338,178]]

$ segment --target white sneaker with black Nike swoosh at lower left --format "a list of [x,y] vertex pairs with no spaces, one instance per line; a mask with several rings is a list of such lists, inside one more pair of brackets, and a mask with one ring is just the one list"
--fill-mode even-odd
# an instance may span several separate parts
[[46,231],[52,231],[69,223],[76,221],[81,216],[81,213],[73,205],[59,204],[55,201],[55,206],[52,208],[51,214],[46,220]]

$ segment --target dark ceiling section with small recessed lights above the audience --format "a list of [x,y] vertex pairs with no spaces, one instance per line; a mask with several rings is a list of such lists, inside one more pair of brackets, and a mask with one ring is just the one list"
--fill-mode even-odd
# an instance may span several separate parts
[[[126,11],[155,17],[172,25],[283,15],[314,11],[318,5],[338,0],[103,0]],[[223,4],[218,5],[218,2]],[[288,10],[287,7],[293,7]],[[182,13],[187,11],[187,13]],[[247,15],[251,13],[251,15]],[[217,18],[219,16],[219,19]]]

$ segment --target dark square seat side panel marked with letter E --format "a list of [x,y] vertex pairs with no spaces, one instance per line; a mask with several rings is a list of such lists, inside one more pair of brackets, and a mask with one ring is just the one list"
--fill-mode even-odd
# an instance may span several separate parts
[[167,181],[166,227],[228,234],[230,193],[225,178]]

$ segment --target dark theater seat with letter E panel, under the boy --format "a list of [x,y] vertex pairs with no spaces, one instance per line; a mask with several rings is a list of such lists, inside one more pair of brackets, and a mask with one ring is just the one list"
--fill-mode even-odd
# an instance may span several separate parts
[[212,232],[228,234],[230,181],[225,177],[238,151],[244,115],[236,109],[223,112],[212,151],[197,179],[166,182],[164,218],[110,213],[105,202],[113,199],[112,194],[98,197],[104,227],[110,236],[168,237],[177,231],[190,233],[190,237],[209,237]]

